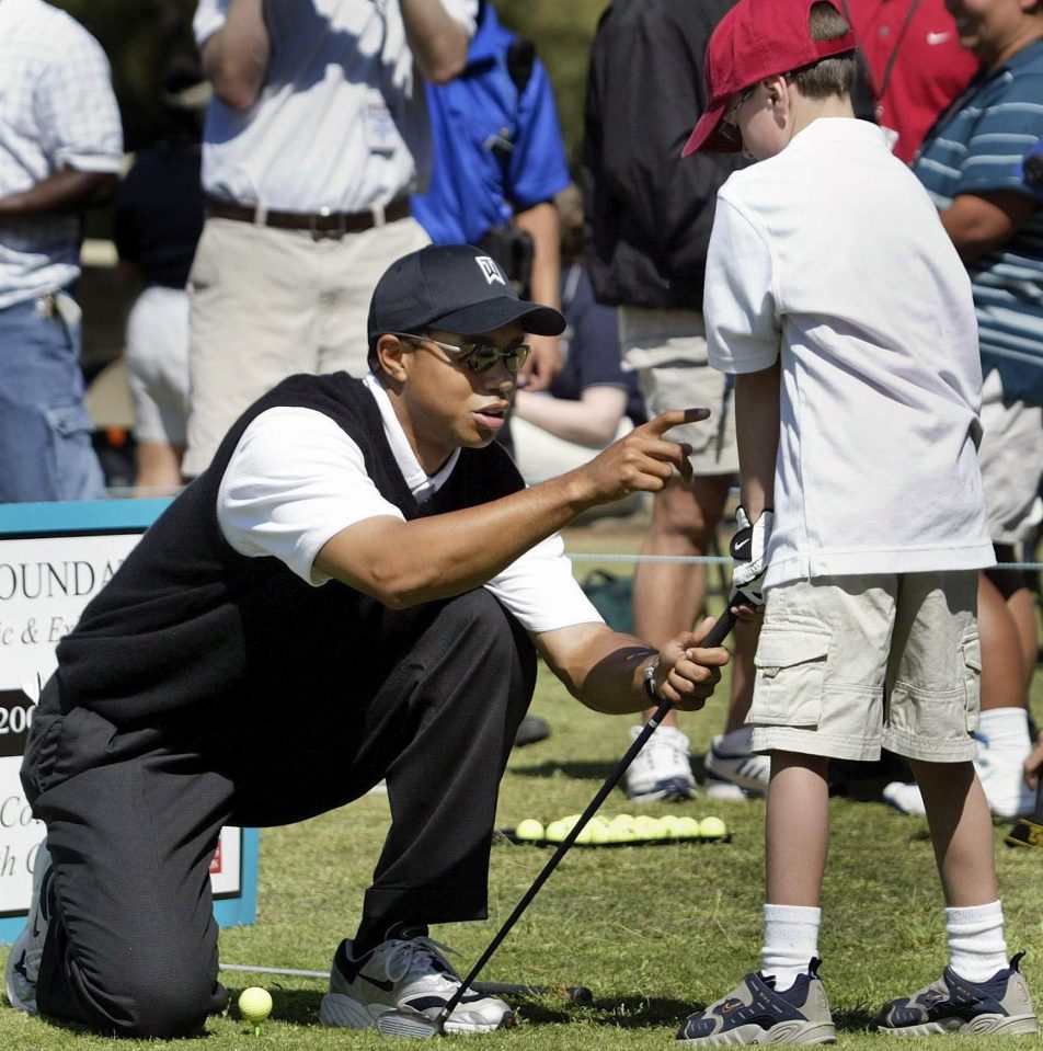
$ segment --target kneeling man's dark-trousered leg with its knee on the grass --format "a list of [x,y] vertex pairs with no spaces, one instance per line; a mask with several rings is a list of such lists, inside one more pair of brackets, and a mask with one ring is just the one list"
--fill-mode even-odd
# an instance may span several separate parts
[[23,780],[54,864],[38,1009],[106,1033],[198,1031],[227,999],[209,862],[230,782],[173,738],[122,733],[82,708],[62,715],[54,679]]

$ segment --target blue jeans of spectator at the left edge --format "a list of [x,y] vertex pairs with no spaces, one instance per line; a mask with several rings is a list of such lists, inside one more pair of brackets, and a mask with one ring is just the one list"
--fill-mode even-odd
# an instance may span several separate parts
[[0,310],[0,503],[102,499],[72,298],[62,292]]

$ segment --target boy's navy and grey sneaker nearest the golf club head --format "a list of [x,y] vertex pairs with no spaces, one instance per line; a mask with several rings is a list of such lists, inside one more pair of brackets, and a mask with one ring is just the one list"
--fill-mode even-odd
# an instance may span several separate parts
[[775,979],[747,974],[727,996],[689,1015],[677,1033],[683,1043],[836,1043],[829,1001],[818,976],[820,960],[790,989]]

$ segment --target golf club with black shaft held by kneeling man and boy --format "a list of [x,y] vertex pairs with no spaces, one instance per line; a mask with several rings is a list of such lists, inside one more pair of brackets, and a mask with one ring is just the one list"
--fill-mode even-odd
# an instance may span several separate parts
[[[731,605],[731,597],[729,598],[729,605]],[[710,647],[720,646],[724,639],[727,637],[729,632],[735,626],[737,617],[732,613],[730,608],[725,608],[724,613],[718,618],[717,624],[710,629],[709,635],[700,642],[700,647],[708,649]],[[673,701],[663,700],[661,701],[658,708],[655,709],[655,713],[652,718],[644,724],[641,730],[641,733],[634,739],[633,743],[627,750],[626,755],[616,764],[612,768],[612,772],[608,775],[605,784],[598,789],[597,795],[591,800],[587,809],[583,811],[580,815],[580,819],[572,826],[569,832],[569,835],[561,842],[558,846],[558,849],[551,855],[550,859],[543,866],[542,871],[539,876],[532,881],[532,886],[522,895],[522,900],[514,907],[514,912],[506,918],[504,925],[500,928],[496,935],[493,937],[493,940],[489,944],[489,947],[478,958],[474,967],[471,968],[467,978],[460,983],[460,987],[452,994],[449,1001],[446,1003],[445,1007],[435,1017],[421,1014],[419,1010],[412,1010],[410,1008],[397,1007],[391,1010],[385,1012],[377,1019],[377,1029],[380,1030],[386,1037],[404,1037],[414,1040],[425,1040],[428,1037],[444,1036],[446,1020],[452,1014],[457,1004],[460,1003],[463,994],[471,987],[475,978],[478,978],[482,968],[489,962],[492,955],[500,948],[501,943],[507,936],[511,928],[518,922],[518,918],[522,916],[522,913],[529,906],[532,899],[539,893],[540,888],[543,883],[547,882],[551,872],[558,868],[558,862],[569,853],[569,848],[576,842],[576,836],[586,827],[587,822],[594,816],[598,808],[603,802],[608,798],[609,792],[616,787],[619,779],[627,772],[627,768],[634,761],[637,754],[644,747],[644,743],[649,740],[650,736],[655,732],[660,723],[663,721],[663,717],[674,707]]]

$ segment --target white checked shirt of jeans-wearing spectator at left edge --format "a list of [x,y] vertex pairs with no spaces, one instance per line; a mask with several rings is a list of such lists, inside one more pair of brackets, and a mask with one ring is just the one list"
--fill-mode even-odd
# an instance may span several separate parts
[[[101,45],[41,0],[0,2],[0,197],[62,168],[116,174],[123,128]],[[80,274],[80,219],[0,224],[0,309],[65,288]]]

